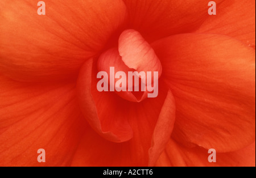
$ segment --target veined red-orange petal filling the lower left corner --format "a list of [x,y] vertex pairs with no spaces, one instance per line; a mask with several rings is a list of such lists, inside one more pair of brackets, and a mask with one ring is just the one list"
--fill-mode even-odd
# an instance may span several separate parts
[[0,166],[70,166],[85,125],[75,83],[0,83]]

